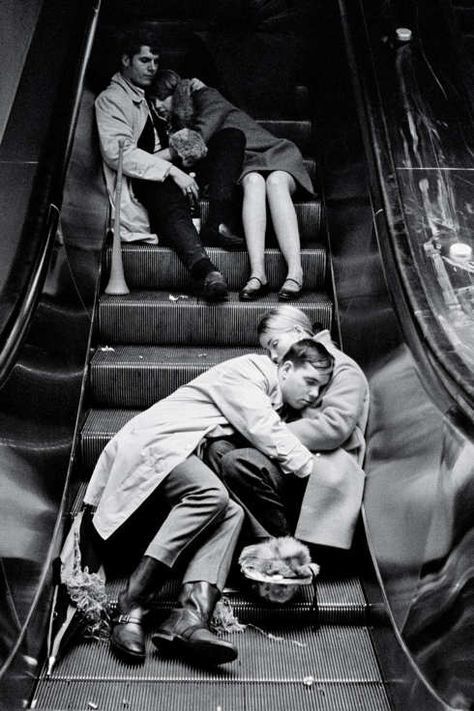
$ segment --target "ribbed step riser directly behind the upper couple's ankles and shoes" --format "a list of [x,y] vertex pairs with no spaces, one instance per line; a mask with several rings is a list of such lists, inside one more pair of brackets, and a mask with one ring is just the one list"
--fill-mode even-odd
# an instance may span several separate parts
[[[245,284],[249,274],[246,251],[226,252],[208,247],[209,257],[225,275],[229,288],[237,291]],[[147,244],[122,245],[125,278],[130,289],[186,289],[190,277],[188,270],[168,247]],[[110,268],[111,247],[107,251],[107,270]],[[301,261],[308,290],[322,289],[326,274],[326,250],[322,246],[303,249]],[[267,278],[272,289],[277,290],[286,277],[286,265],[278,249],[265,252]]]

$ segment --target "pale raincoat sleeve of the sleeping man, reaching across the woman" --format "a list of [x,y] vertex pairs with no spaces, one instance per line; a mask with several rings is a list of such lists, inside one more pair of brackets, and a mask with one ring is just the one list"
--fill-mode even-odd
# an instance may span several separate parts
[[307,477],[313,470],[313,456],[273,409],[270,390],[268,378],[255,368],[250,373],[228,369],[207,392],[227,421],[276,460],[284,473]]

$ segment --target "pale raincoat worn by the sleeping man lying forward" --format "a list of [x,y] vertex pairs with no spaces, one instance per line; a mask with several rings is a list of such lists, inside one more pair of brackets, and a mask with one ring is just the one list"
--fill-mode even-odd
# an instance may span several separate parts
[[[267,356],[220,363],[140,413],[103,450],[84,501],[106,539],[204,438],[241,432],[282,471],[308,476],[314,457],[275,411],[277,367]],[[230,428],[228,426],[231,426]]]

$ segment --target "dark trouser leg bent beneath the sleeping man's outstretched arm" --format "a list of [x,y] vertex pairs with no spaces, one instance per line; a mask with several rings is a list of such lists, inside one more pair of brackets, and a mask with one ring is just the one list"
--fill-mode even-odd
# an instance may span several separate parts
[[250,533],[253,538],[293,535],[305,480],[282,474],[277,465],[253,448],[225,454],[220,474],[247,514],[244,535]]

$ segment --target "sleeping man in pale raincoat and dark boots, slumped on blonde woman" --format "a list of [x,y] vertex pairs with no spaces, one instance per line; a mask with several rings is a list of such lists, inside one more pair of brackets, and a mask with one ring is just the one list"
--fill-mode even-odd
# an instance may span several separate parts
[[184,560],[178,605],[153,643],[201,663],[237,657],[233,645],[212,634],[209,621],[243,511],[198,453],[210,438],[239,432],[283,472],[310,477],[315,458],[277,411],[285,404],[301,410],[314,403],[331,377],[333,361],[323,345],[306,339],[279,365],[254,354],[223,362],[134,417],[107,444],[84,497],[85,504],[96,507],[93,524],[100,538],[113,539],[152,496],[168,507],[119,594],[111,636],[116,654],[129,662],[144,660],[142,618],[149,599]]

